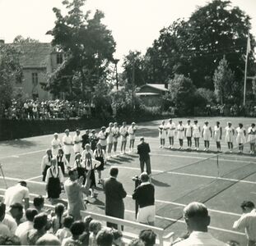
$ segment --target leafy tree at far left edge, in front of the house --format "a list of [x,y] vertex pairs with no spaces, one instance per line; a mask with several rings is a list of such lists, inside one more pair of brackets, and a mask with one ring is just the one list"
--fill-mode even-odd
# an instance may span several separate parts
[[11,103],[14,83],[23,80],[21,52],[12,45],[0,45],[0,114]]

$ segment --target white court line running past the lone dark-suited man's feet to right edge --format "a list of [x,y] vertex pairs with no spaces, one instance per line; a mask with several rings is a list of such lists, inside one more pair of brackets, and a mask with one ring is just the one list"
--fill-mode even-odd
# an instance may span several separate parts
[[[115,167],[118,167],[118,168],[121,168],[121,169],[123,168],[123,169],[131,169],[131,170],[141,171],[141,169],[137,168],[137,167],[130,167],[130,166],[115,166]],[[256,182],[248,181],[248,180],[235,180],[235,179],[221,178],[221,177],[209,176],[209,175],[194,175],[194,174],[189,174],[189,173],[184,173],[184,172],[161,171],[161,170],[156,170],[156,169],[152,169],[152,171],[159,172],[159,173],[168,173],[168,174],[184,175],[184,176],[191,176],[191,177],[194,176],[194,177],[198,177],[198,178],[206,178],[206,179],[212,179],[212,180],[226,180],[226,181],[232,181],[232,182],[237,182],[237,183],[245,183],[245,184],[256,185]]]

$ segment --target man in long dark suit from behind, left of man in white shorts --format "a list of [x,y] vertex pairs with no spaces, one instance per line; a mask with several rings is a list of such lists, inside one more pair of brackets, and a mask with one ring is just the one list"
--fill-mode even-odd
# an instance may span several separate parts
[[[110,177],[104,180],[103,189],[105,191],[105,215],[120,219],[124,217],[123,198],[126,197],[126,191],[123,185],[117,180],[119,169],[112,167]],[[116,224],[107,222],[108,227],[118,228]]]

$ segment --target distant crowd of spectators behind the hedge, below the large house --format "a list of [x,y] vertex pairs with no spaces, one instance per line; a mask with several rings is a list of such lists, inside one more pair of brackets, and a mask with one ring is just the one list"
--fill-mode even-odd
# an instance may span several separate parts
[[89,118],[95,114],[95,104],[80,101],[67,100],[16,100],[12,99],[11,106],[4,111],[6,119],[46,120]]

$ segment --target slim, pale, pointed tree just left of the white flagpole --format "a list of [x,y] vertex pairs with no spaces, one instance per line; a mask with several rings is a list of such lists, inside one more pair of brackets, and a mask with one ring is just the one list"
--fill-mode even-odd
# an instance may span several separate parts
[[229,103],[234,98],[235,75],[230,70],[226,57],[223,57],[213,76],[214,92],[218,103]]

